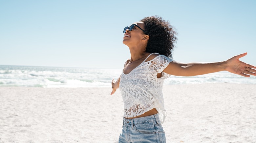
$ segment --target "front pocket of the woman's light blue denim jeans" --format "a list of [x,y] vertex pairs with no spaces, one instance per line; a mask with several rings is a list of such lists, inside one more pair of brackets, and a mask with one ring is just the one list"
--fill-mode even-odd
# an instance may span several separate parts
[[155,124],[153,122],[145,122],[134,125],[135,131],[143,134],[156,134]]

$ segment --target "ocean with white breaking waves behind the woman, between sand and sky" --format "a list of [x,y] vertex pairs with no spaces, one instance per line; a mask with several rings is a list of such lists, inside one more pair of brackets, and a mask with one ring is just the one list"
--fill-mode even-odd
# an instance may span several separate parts
[[[122,69],[90,69],[0,65],[0,87],[111,87]],[[256,77],[245,78],[227,71],[192,77],[170,76],[164,85],[235,83],[256,84]]]

